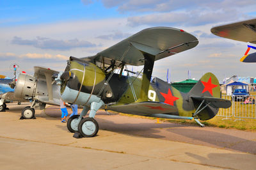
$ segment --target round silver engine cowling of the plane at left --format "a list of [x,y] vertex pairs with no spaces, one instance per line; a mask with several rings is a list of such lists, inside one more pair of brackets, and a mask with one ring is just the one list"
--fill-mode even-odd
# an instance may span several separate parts
[[26,73],[20,73],[15,86],[15,97],[32,98],[35,96],[35,89],[36,78]]

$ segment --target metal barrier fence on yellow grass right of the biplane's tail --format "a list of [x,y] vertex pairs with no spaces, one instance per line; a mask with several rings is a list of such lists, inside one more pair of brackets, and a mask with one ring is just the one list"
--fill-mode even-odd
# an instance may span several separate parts
[[223,95],[221,98],[230,100],[232,105],[228,109],[221,108],[216,116],[223,117],[223,120],[230,119],[231,117],[239,118],[238,120],[241,120],[241,118],[256,119],[255,95],[250,95],[250,103],[248,104],[244,104],[244,100],[246,100],[244,96],[232,98],[232,96]]

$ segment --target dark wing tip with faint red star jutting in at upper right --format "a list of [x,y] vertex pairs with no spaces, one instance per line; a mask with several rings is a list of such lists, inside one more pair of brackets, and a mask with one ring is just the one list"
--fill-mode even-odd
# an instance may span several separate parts
[[214,35],[241,42],[256,43],[256,19],[244,20],[224,26],[212,27]]

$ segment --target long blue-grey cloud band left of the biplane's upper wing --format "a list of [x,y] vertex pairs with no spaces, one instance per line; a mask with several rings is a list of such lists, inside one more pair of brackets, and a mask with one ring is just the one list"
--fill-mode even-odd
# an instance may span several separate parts
[[54,40],[52,38],[45,38],[36,36],[33,40],[26,40],[19,36],[14,36],[12,39],[13,44],[29,45],[39,49],[52,49],[52,50],[70,50],[77,47],[96,47],[94,43],[87,41],[79,41],[76,38],[72,40]]

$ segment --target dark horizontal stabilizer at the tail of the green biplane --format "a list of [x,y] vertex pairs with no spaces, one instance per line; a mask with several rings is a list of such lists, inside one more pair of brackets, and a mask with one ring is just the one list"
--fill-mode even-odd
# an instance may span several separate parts
[[202,102],[204,100],[205,103],[211,103],[209,105],[211,105],[212,107],[215,107],[215,108],[227,109],[228,107],[231,106],[230,100],[226,100],[226,99],[223,99],[223,98],[216,98],[216,97],[193,97],[193,96],[191,96],[191,98],[193,100],[198,100],[200,102]]

